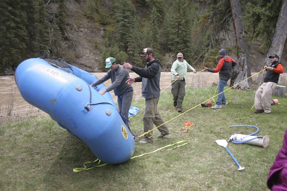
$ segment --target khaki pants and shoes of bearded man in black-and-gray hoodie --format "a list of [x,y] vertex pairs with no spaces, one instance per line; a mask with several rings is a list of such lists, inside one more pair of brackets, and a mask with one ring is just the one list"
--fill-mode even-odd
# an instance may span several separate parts
[[[158,100],[159,97],[156,98],[150,98],[146,99],[146,107],[144,110],[144,132],[148,132],[152,129],[154,129],[154,125],[158,127],[158,130],[161,134],[165,134],[169,132],[168,127],[166,124],[162,125],[164,123],[164,120],[162,119],[162,116],[158,113],[157,106],[158,106]],[[151,137],[152,131],[150,133],[146,134],[144,137],[147,141],[152,141],[153,137]]]

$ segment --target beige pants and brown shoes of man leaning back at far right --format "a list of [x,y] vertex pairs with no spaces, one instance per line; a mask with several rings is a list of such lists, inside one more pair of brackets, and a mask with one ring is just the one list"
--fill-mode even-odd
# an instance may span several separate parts
[[265,113],[270,113],[271,97],[277,83],[263,82],[255,93],[254,107],[256,110],[264,110]]

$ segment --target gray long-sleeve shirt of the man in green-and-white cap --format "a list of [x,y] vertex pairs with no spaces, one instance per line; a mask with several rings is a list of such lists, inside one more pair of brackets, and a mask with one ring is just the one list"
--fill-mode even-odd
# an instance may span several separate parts
[[133,86],[126,83],[126,81],[129,79],[128,77],[129,71],[127,69],[123,69],[123,67],[118,64],[116,70],[110,69],[106,75],[94,82],[93,85],[97,86],[106,80],[111,79],[112,84],[106,88],[106,91],[109,92],[114,90],[115,95],[118,96],[133,90]]

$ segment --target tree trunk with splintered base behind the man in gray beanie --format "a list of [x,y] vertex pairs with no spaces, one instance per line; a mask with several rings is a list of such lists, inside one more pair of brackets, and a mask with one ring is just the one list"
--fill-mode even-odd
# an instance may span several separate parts
[[[249,51],[247,47],[247,40],[243,37],[243,34],[245,32],[244,23],[241,19],[242,17],[242,11],[239,0],[229,0],[230,8],[231,8],[231,14],[233,17],[233,27],[235,31],[235,38],[236,38],[236,44],[239,46],[239,52],[237,53],[238,56],[238,63],[236,68],[234,68],[231,72],[231,79],[230,79],[230,86],[234,86],[236,84],[235,82],[241,82],[247,77],[251,76],[251,68],[249,63]],[[252,79],[249,78],[249,82],[251,82]],[[248,83],[242,83],[238,84],[234,88],[237,89],[244,89],[249,88]]]

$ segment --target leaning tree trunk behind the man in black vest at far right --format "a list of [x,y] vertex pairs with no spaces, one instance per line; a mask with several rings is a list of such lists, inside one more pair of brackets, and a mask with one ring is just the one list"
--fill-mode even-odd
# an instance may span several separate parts
[[[264,66],[269,66],[271,64],[270,59],[269,59],[270,55],[277,54],[279,58],[282,57],[282,52],[284,49],[286,38],[287,38],[287,0],[283,0],[281,11],[279,13],[276,28],[274,31],[274,35],[272,37],[271,46],[265,58],[264,64],[262,65],[262,70]],[[263,79],[265,77],[265,73],[266,72],[264,71]],[[261,85],[260,81],[261,81],[261,78],[257,78],[256,84],[258,84],[259,86]]]

